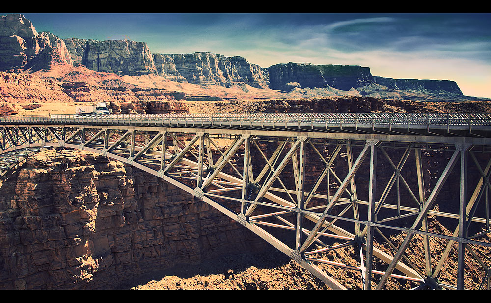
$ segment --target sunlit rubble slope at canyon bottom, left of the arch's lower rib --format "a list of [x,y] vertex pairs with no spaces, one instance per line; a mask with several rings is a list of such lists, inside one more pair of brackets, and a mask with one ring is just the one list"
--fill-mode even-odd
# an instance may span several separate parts
[[126,282],[131,290],[314,290],[328,287],[281,252],[220,256]]

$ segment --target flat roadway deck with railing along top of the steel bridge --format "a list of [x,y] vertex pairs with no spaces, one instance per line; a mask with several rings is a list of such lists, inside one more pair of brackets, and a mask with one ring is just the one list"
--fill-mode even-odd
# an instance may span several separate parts
[[98,125],[490,137],[490,114],[137,114],[0,118],[1,125]]

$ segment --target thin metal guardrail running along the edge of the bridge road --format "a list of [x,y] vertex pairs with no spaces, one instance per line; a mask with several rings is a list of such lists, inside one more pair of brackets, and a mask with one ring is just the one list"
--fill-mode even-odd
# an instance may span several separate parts
[[339,124],[339,125],[425,125],[425,126],[491,126],[488,113],[342,113],[342,114],[119,114],[119,115],[39,115],[0,117],[5,124]]

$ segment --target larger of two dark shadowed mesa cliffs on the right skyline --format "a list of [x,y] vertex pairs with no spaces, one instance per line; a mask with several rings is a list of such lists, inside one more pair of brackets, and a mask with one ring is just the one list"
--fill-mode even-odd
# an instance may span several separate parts
[[290,90],[292,84],[302,88],[329,85],[340,90],[373,83],[370,68],[357,65],[314,65],[310,63],[276,64],[268,68],[270,88]]

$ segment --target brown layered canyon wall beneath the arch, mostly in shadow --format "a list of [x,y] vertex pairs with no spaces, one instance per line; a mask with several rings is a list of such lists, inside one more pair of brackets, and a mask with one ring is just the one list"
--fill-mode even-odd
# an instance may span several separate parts
[[262,241],[162,179],[86,151],[39,153],[0,193],[0,289],[111,289]]

